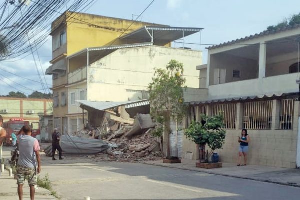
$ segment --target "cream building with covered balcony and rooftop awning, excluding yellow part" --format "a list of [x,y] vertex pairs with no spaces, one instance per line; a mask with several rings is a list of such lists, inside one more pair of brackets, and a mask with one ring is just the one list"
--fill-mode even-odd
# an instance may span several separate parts
[[[169,44],[201,29],[142,27],[120,38],[128,44],[84,48],[67,56],[68,132],[82,129],[86,121],[83,118],[87,119],[78,100],[119,102],[146,99],[155,68],[165,68],[171,59],[183,63],[189,87],[186,95],[189,100],[196,100],[199,72],[194,66],[202,63],[202,52],[169,47]],[[140,43],[130,43],[131,40]]]

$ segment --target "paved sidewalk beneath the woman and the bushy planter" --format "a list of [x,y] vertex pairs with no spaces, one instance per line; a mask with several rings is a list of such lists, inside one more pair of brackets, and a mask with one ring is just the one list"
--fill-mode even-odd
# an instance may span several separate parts
[[144,162],[144,164],[300,187],[300,169],[256,165],[236,166],[236,164],[232,163],[223,163],[222,168],[204,169],[196,168],[196,160],[189,159],[181,159],[181,163],[179,164],[165,164],[162,160]]

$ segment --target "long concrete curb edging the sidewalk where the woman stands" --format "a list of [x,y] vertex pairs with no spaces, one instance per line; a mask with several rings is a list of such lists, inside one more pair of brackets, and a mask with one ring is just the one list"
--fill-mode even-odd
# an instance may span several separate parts
[[213,174],[213,175],[221,175],[221,176],[225,176],[225,177],[255,180],[255,181],[259,181],[259,182],[267,182],[267,183],[279,184],[279,185],[284,185],[284,186],[300,187],[300,185],[298,185],[298,184],[289,183],[289,182],[285,183],[285,182],[272,181],[272,180],[269,180],[269,179],[259,179],[259,178],[250,178],[250,177],[237,176],[237,175],[227,175],[227,174],[218,173],[218,172],[202,171],[202,170],[195,170],[195,169],[189,169],[189,168],[184,168],[184,167],[176,167],[176,166],[166,166],[166,165],[162,165],[162,164],[152,164],[152,163],[145,163],[145,162],[140,162],[140,163],[141,164],[152,165],[152,166],[162,166],[162,167],[166,167],[166,168],[175,168],[175,169],[195,171],[195,172],[200,172],[200,173],[208,173],[208,174]]

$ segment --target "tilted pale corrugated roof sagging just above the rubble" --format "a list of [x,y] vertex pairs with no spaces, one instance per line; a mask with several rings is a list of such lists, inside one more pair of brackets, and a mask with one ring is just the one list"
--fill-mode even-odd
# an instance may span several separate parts
[[123,101],[123,102],[107,102],[107,101],[88,101],[88,100],[78,100],[81,105],[91,107],[97,110],[107,110],[114,107],[125,106],[125,108],[138,107],[143,105],[148,105],[150,102],[148,99],[144,100],[133,100],[133,101]]

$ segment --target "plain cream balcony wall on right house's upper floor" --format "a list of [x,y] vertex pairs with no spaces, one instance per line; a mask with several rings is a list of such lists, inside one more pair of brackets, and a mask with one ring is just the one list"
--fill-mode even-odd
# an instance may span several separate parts
[[274,93],[293,93],[299,91],[296,84],[297,73],[264,77],[262,79],[243,80],[208,87],[209,99],[221,99],[239,96],[255,96]]

